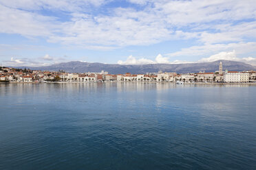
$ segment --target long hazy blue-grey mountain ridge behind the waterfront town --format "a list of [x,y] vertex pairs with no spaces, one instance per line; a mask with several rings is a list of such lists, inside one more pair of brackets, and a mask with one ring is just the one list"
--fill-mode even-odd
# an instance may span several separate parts
[[[59,71],[64,70],[68,73],[85,73],[85,72],[100,72],[108,71],[111,74],[118,73],[157,73],[176,72],[176,73],[196,73],[199,71],[213,72],[219,68],[220,61],[223,64],[223,70],[228,71],[248,71],[256,70],[256,66],[246,64],[244,62],[234,62],[228,60],[218,60],[215,62],[200,62],[189,64],[142,64],[142,65],[120,65],[120,64],[103,64],[98,62],[63,62],[53,64],[52,66],[39,66],[26,68],[42,71]],[[20,68],[24,68],[20,67]]]

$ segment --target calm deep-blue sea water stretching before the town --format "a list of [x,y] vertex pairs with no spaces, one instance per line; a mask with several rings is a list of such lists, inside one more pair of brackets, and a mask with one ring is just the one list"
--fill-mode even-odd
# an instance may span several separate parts
[[256,86],[0,84],[0,169],[256,169]]

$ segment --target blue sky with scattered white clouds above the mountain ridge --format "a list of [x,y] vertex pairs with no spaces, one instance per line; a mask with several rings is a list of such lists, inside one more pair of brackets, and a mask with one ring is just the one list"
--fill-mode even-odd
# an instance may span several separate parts
[[0,0],[0,64],[256,65],[255,0]]

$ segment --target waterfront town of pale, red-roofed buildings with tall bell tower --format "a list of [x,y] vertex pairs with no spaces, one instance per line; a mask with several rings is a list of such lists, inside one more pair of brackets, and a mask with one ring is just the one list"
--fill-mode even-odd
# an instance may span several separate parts
[[193,83],[256,83],[256,71],[222,71],[222,62],[215,73],[147,73],[109,74],[66,73],[65,71],[34,71],[0,66],[0,82],[175,82]]

